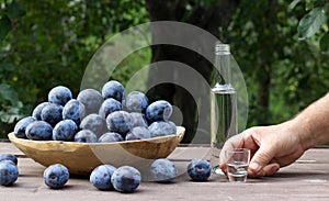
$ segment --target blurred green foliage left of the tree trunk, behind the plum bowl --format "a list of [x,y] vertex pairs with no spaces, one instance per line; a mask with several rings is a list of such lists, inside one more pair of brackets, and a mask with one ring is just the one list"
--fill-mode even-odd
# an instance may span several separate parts
[[[0,0],[0,136],[47,100],[58,85],[77,96],[88,62],[111,35],[148,22],[143,1]],[[125,82],[148,64],[143,49],[113,79]]]

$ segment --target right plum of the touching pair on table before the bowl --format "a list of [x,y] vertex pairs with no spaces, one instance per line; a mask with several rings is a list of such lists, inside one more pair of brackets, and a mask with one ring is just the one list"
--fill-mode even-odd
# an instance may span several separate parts
[[111,178],[115,190],[120,192],[134,192],[141,180],[140,172],[132,166],[122,166],[117,168]]

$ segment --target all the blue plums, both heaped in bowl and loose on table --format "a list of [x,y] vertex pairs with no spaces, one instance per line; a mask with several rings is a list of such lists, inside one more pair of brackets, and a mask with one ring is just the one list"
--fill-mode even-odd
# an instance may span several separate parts
[[[149,103],[140,91],[125,96],[118,81],[106,82],[102,91],[84,89],[76,99],[70,89],[58,86],[48,93],[48,101],[39,103],[31,116],[20,120],[14,127],[19,138],[32,141],[68,141],[79,143],[113,143],[174,135],[177,126],[169,121],[172,105],[166,100]],[[11,154],[0,154],[0,185],[12,186],[18,177],[18,160]],[[178,176],[174,164],[167,158],[154,160],[149,172],[155,181],[171,182]],[[206,181],[211,165],[193,159],[188,174],[195,181]],[[69,180],[69,170],[54,164],[44,171],[45,185],[63,188]],[[141,180],[132,166],[101,165],[91,172],[90,182],[100,190],[133,192]]]

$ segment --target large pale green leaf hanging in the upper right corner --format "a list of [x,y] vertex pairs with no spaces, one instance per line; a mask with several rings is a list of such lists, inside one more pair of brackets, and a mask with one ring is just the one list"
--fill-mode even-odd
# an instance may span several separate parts
[[325,8],[315,8],[299,21],[297,31],[302,38],[310,37],[319,31],[326,21]]

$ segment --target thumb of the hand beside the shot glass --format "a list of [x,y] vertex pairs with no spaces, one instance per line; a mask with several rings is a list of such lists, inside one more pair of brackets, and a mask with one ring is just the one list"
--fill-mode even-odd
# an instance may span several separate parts
[[274,152],[269,148],[260,147],[253,155],[249,170],[252,174],[259,175],[259,172],[272,160]]

